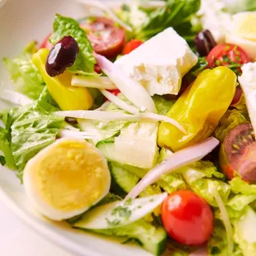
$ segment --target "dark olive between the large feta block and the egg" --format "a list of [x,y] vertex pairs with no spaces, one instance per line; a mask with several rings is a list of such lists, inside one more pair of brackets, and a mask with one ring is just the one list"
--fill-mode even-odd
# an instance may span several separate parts
[[208,30],[199,32],[194,42],[197,48],[197,52],[199,55],[201,55],[201,57],[208,55],[211,49],[217,45],[216,41],[211,35],[211,32]]

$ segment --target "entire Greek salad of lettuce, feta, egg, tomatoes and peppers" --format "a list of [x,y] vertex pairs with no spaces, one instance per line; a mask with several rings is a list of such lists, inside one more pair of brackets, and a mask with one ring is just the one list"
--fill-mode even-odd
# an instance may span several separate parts
[[[256,5],[56,14],[3,59],[0,162],[50,220],[154,255],[256,255]],[[97,12],[98,13],[98,12]]]

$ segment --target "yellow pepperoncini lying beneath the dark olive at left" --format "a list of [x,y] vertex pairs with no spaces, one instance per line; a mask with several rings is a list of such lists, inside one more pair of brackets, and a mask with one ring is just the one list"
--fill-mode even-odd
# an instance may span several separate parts
[[72,74],[64,72],[54,78],[46,72],[45,63],[49,50],[40,49],[32,56],[32,62],[40,70],[50,95],[62,110],[87,110],[92,107],[93,97],[87,88],[71,86]]

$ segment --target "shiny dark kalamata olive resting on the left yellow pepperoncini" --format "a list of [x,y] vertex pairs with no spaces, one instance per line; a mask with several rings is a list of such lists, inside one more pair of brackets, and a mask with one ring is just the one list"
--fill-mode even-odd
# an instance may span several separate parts
[[62,40],[50,50],[45,64],[45,69],[51,77],[64,73],[71,67],[79,52],[79,46],[72,36],[64,36]]

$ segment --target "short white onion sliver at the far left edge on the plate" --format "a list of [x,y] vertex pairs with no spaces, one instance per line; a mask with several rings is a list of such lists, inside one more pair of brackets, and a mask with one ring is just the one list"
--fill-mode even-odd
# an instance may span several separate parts
[[0,98],[4,101],[11,102],[20,106],[26,106],[33,102],[30,97],[27,97],[20,92],[14,92],[11,90],[2,90],[2,92],[0,92]]

